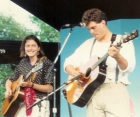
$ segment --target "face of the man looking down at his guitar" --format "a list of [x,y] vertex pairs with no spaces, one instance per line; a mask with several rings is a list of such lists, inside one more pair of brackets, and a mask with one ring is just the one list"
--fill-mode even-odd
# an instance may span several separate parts
[[105,26],[104,20],[102,20],[101,23],[90,21],[87,25],[87,28],[98,41],[101,41],[104,37]]

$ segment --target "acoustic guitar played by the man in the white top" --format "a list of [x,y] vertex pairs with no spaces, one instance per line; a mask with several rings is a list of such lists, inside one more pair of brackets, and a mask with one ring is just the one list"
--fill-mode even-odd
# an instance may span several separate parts
[[[122,43],[129,42],[136,37],[138,37],[137,30],[133,31],[131,34],[123,36],[120,42],[117,43],[116,47],[119,48],[121,47]],[[80,66],[80,68],[76,68],[85,74],[83,74],[78,80],[74,80],[74,82],[69,83],[66,86],[65,95],[70,104],[74,104],[79,107],[85,106],[91,99],[94,91],[104,83],[106,78],[106,67],[101,66],[101,63],[108,56],[108,53],[106,53],[100,59],[98,59],[96,56],[93,56],[85,65]],[[72,77],[69,76],[69,79],[71,78]]]

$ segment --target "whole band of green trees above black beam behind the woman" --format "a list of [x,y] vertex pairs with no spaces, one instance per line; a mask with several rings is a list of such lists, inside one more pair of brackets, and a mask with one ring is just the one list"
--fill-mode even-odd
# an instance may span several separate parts
[[25,36],[33,34],[43,42],[59,42],[59,32],[56,29],[33,15],[30,15],[30,20],[37,25],[38,31],[27,29],[24,25],[16,22],[12,16],[0,14],[0,39],[22,40]]

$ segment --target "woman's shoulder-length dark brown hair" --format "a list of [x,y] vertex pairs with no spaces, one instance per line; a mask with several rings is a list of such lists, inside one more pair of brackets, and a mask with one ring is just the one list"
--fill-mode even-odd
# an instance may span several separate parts
[[40,51],[38,53],[39,58],[45,55],[44,52],[43,52],[43,48],[42,48],[40,40],[34,35],[28,35],[22,41],[22,44],[21,44],[21,47],[20,47],[20,57],[25,57],[25,55],[26,55],[25,54],[25,44],[26,44],[27,40],[34,40],[37,43],[37,45],[40,47]]

